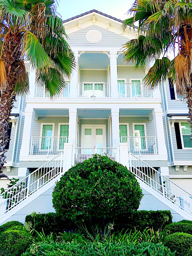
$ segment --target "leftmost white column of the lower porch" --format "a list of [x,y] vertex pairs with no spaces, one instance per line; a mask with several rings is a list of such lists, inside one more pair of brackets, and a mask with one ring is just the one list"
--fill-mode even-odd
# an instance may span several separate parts
[[30,142],[33,131],[33,123],[34,123],[35,111],[34,110],[25,110],[25,121],[23,126],[23,138],[20,149],[20,156],[28,156],[30,150]]

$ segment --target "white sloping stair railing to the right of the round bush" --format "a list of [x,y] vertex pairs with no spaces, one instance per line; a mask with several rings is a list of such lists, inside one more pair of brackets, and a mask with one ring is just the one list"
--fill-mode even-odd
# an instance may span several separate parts
[[192,213],[192,195],[182,189],[161,172],[146,164],[140,158],[129,153],[130,171],[166,199],[186,212]]

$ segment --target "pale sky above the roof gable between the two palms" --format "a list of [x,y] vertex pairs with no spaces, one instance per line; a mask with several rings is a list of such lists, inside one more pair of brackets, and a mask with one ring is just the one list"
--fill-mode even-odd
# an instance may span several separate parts
[[115,18],[124,20],[125,14],[131,7],[133,0],[60,0],[57,11],[63,20],[88,12],[92,9],[107,13]]

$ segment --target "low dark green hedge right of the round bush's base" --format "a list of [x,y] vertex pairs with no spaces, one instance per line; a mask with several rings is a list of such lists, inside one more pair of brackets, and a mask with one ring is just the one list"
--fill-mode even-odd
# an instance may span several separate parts
[[114,229],[124,230],[134,229],[143,231],[144,229],[153,228],[158,230],[165,228],[166,225],[172,223],[171,211],[135,211],[130,217],[120,215],[115,222]]

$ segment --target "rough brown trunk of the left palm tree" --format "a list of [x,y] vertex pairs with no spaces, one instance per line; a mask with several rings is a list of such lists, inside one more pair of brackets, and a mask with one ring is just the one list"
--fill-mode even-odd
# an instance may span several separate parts
[[[17,31],[16,31],[17,32]],[[13,107],[13,98],[15,96],[15,86],[18,82],[19,60],[20,60],[20,42],[21,37],[10,32],[4,39],[3,54],[1,59],[4,61],[7,85],[5,90],[0,91],[0,178],[7,178],[3,172],[5,162],[5,146],[9,140],[8,130],[10,127],[10,114]]]

